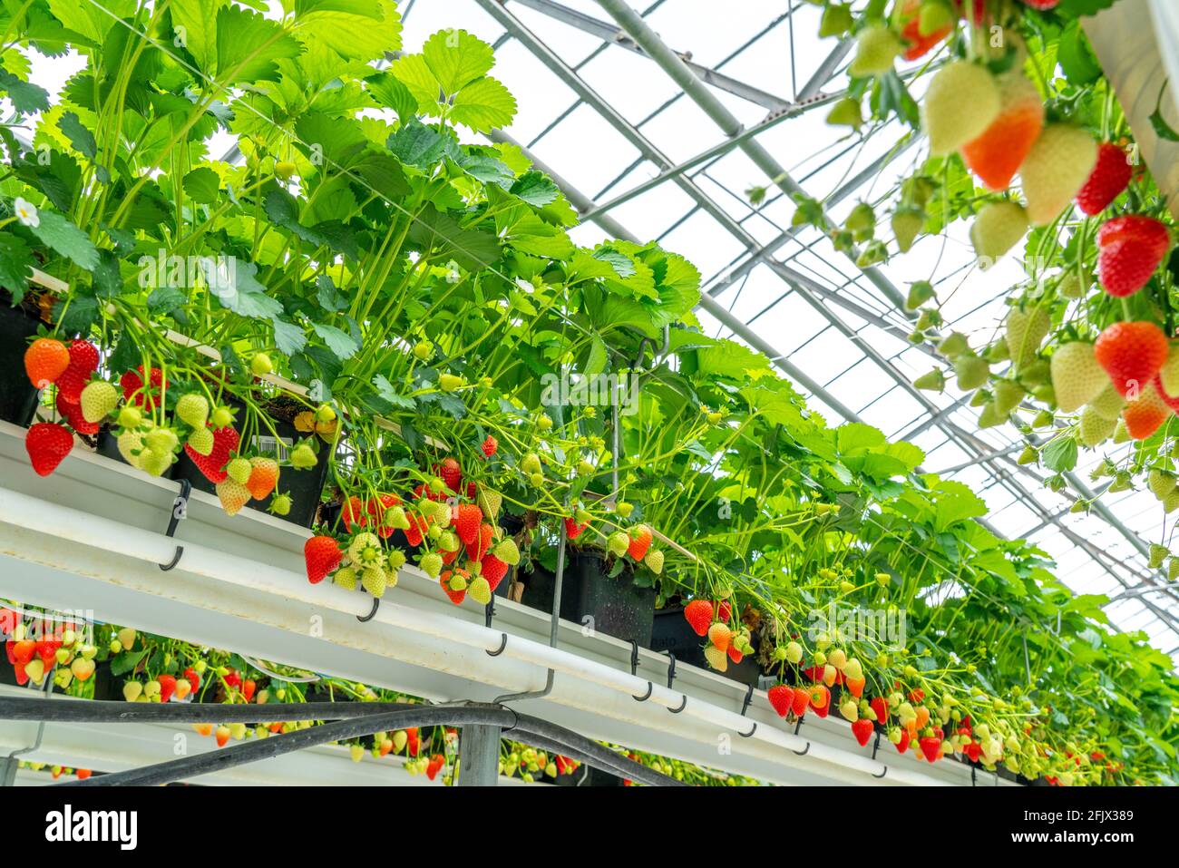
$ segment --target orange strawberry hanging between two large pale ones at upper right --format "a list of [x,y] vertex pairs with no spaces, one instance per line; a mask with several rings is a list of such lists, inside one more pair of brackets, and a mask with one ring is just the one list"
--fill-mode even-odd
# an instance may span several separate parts
[[1040,92],[1019,70],[999,77],[1000,110],[981,136],[962,145],[962,159],[990,190],[1006,190],[1043,127]]

